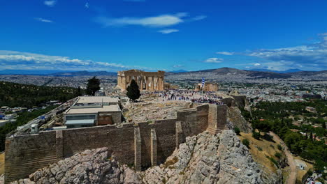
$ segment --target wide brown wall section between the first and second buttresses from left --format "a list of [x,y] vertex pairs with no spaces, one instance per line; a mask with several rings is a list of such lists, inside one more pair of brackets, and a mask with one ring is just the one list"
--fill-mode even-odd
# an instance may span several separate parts
[[63,130],[64,158],[85,151],[108,147],[117,160],[126,164],[133,163],[134,126],[125,124],[122,128],[116,125],[97,126]]

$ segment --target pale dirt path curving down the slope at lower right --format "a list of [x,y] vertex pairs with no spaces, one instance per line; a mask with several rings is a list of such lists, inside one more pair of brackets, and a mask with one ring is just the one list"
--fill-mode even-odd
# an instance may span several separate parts
[[289,148],[287,148],[286,144],[282,139],[278,137],[278,135],[275,135],[274,132],[269,132],[270,135],[274,137],[276,141],[279,141],[282,146],[284,146],[285,150],[284,153],[287,158],[287,163],[289,164],[289,167],[291,168],[291,172],[289,172],[289,177],[287,177],[287,184],[296,184],[296,164],[294,162],[293,156],[291,155],[291,152],[289,151]]

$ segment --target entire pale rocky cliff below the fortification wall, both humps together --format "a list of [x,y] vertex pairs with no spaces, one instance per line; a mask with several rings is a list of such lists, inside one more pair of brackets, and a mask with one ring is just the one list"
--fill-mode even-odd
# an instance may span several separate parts
[[[271,181],[271,182],[270,182]],[[275,183],[232,130],[187,137],[166,162],[145,171],[121,165],[107,148],[87,150],[14,183]]]

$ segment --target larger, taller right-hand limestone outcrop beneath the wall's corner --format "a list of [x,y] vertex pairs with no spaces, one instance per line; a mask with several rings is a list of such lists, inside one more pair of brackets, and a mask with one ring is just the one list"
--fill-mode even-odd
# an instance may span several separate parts
[[261,170],[232,130],[187,137],[164,164],[141,174],[143,183],[263,183]]

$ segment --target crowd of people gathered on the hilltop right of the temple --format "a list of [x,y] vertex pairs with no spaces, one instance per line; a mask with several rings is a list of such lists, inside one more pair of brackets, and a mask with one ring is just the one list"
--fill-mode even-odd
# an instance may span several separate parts
[[189,91],[189,90],[169,90],[169,91],[154,91],[153,93],[157,93],[163,101],[166,100],[183,100],[190,102],[198,102],[198,103],[210,103],[223,105],[224,103],[220,100],[221,96],[216,95],[214,92],[206,91]]

